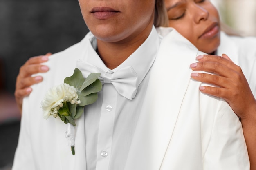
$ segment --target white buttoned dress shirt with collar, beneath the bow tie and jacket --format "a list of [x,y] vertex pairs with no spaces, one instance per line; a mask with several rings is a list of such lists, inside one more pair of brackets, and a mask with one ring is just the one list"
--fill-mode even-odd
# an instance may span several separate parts
[[[103,64],[95,52],[96,38],[92,37],[90,41],[93,48],[86,51],[87,54],[82,60],[107,73],[110,69]],[[153,29],[148,39],[127,60],[112,70],[115,72],[126,66],[132,66],[138,76],[135,98],[127,99],[121,96],[111,83],[105,83],[98,93],[97,102],[85,106],[87,170],[124,169],[145,96],[148,73],[155,60],[159,43],[159,36]]]

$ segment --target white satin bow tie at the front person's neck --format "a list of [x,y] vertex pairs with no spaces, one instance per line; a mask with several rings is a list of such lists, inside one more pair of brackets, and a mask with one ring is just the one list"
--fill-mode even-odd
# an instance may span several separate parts
[[99,77],[101,83],[112,83],[117,92],[127,99],[132,100],[137,93],[138,77],[132,66],[121,68],[114,73],[112,70],[106,72],[88,62],[79,60],[77,61],[77,68],[85,77],[87,77],[90,73],[101,73],[101,76]]

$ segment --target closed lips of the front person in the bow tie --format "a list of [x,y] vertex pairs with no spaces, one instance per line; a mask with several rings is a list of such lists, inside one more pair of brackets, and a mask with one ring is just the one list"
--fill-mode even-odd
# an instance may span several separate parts
[[91,10],[92,15],[99,20],[106,20],[119,12],[110,7],[94,7]]

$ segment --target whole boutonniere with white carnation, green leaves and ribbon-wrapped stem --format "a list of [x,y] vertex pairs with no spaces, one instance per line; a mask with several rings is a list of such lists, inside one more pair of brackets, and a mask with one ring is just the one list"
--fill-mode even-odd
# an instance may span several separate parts
[[68,145],[72,154],[75,154],[75,119],[83,114],[84,106],[96,102],[97,92],[101,91],[102,84],[98,79],[100,73],[91,73],[85,79],[81,71],[76,68],[71,77],[66,77],[64,83],[54,86],[47,91],[41,102],[43,117],[59,117],[65,124]]

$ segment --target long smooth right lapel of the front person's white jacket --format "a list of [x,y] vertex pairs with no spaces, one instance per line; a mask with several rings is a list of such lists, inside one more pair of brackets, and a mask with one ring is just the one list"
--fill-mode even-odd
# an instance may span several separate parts
[[166,35],[151,68],[143,109],[126,170],[159,170],[189,85],[198,49],[173,30]]

